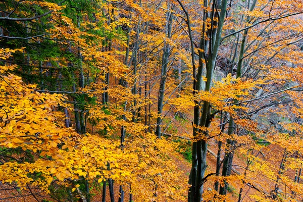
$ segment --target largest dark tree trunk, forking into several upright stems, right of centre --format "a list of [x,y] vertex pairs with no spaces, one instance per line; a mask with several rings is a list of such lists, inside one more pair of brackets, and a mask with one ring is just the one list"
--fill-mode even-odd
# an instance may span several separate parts
[[[219,9],[221,10],[220,16],[218,17],[218,24],[217,21],[214,21],[215,16],[212,17],[212,27],[211,31],[209,32],[209,38],[205,38],[205,31],[201,34],[200,40],[200,49],[203,51],[199,51],[199,66],[198,72],[196,75],[195,72],[195,65],[194,65],[194,47],[193,47],[193,39],[191,36],[191,27],[190,27],[190,18],[189,15],[182,5],[182,3],[178,0],[178,3],[182,7],[184,13],[186,14],[187,18],[187,26],[189,37],[191,41],[191,52],[192,52],[192,64],[193,64],[193,94],[197,93],[203,87],[203,81],[201,79],[201,75],[203,75],[204,65],[202,60],[206,62],[206,76],[207,82],[205,86],[206,91],[210,91],[212,86],[212,79],[213,79],[213,72],[215,69],[216,58],[219,50],[221,35],[222,35],[222,28],[223,23],[226,15],[226,8],[227,8],[227,0],[221,1],[221,5],[219,5]],[[208,1],[204,2],[204,7],[208,7]],[[215,11],[215,5],[213,5],[213,15],[217,14]],[[204,18],[205,20],[208,18],[208,11],[204,11]],[[205,30],[205,27],[203,28]],[[208,48],[209,44],[209,48]],[[209,49],[209,57],[206,58],[206,51]],[[194,107],[194,123],[193,123],[193,136],[199,136],[199,134],[203,134],[204,137],[208,137],[208,131],[199,131],[196,127],[197,125],[203,127],[209,127],[214,115],[211,114],[211,106],[208,102],[203,102],[203,110],[200,114],[199,112],[199,102],[195,100],[196,106]],[[200,139],[200,138],[198,138]],[[208,143],[206,140],[197,140],[193,141],[192,144],[192,168],[189,176],[189,184],[191,185],[188,194],[188,201],[190,202],[200,202],[203,200],[202,193],[203,193],[203,185],[205,183],[205,170],[207,168],[206,164],[206,156],[207,156],[207,146]]]

